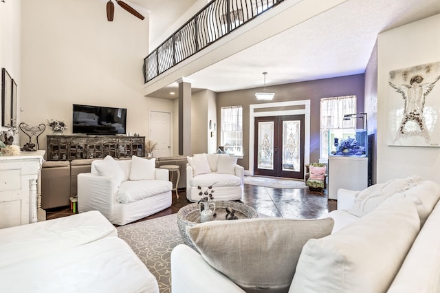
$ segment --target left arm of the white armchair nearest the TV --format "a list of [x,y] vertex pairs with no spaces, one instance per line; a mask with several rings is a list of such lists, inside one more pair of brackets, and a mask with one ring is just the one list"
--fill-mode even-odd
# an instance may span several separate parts
[[78,174],[78,212],[99,210],[109,221],[113,205],[117,202],[118,182],[111,177]]

